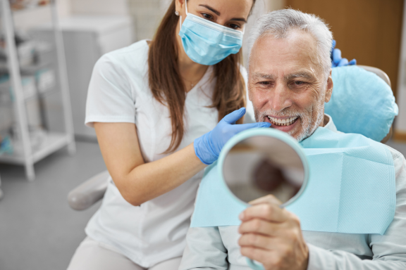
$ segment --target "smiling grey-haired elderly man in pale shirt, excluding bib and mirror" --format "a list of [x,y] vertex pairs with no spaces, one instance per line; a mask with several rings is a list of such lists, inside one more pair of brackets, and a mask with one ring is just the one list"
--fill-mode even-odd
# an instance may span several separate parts
[[[300,11],[274,11],[259,19],[249,68],[257,122],[271,122],[297,141],[318,127],[338,132],[324,115],[333,90],[331,39],[319,18]],[[273,198],[261,198],[240,214],[240,226],[190,228],[180,270],[249,269],[245,257],[264,269],[406,269],[406,162],[388,150],[396,206],[383,235],[302,231],[295,214]]]

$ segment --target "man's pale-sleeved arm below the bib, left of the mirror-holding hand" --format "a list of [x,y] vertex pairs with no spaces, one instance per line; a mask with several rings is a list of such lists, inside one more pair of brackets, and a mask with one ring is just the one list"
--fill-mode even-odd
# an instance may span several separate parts
[[227,250],[218,227],[189,228],[179,270],[226,270]]

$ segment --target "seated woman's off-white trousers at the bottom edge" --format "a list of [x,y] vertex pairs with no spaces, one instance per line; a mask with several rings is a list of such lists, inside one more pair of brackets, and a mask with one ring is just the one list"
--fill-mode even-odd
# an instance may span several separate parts
[[[178,270],[182,257],[168,259],[149,270]],[[147,270],[124,255],[86,237],[75,251],[68,270]]]

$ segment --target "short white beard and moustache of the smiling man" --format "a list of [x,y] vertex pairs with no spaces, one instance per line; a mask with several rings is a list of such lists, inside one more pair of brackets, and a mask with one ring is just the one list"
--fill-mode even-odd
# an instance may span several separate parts
[[[313,119],[314,110],[316,110],[315,119]],[[257,108],[255,108],[255,106],[254,106],[254,113],[255,113],[255,120],[257,122],[264,121],[264,117],[266,117],[266,115],[272,115],[272,116],[276,116],[276,117],[298,115],[300,117],[300,120],[302,121],[302,123],[301,123],[302,130],[296,136],[293,136],[293,133],[296,131],[295,129],[288,131],[287,133],[290,136],[293,136],[293,138],[295,138],[297,141],[302,141],[302,140],[308,138],[309,136],[311,136],[314,133],[314,131],[316,131],[316,129],[320,126],[321,121],[324,120],[324,95],[321,96],[320,100],[317,101],[317,103],[314,105],[314,107],[310,108],[310,110],[299,111],[299,110],[295,110],[292,108],[286,108],[278,113],[271,109],[265,110],[263,112],[259,112],[259,110],[257,110]]]

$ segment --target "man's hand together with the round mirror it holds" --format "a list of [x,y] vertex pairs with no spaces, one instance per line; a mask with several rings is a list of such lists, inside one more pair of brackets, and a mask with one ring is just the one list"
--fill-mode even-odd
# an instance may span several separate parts
[[259,132],[246,131],[220,158],[230,191],[252,205],[240,214],[241,254],[252,269],[307,269],[309,250],[300,220],[285,209],[305,190],[307,159],[287,134]]

